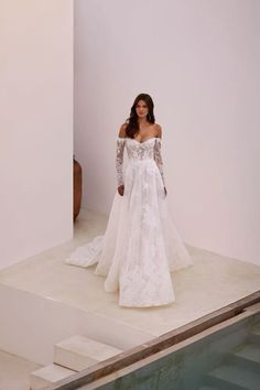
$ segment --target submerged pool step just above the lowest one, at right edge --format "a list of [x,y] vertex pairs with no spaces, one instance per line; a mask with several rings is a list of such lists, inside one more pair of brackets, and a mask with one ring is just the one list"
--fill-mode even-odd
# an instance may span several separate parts
[[248,368],[260,372],[260,345],[245,345],[238,351],[231,355],[230,361],[239,367]]

